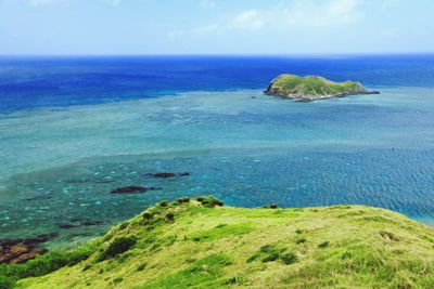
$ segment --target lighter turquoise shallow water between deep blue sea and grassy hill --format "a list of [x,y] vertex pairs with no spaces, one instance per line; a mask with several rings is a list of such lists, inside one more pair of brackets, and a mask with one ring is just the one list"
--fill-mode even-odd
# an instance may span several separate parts
[[[68,247],[195,195],[244,207],[365,203],[432,224],[434,89],[380,90],[315,103],[199,91],[0,115],[0,235],[60,232],[50,246]],[[127,185],[162,189],[110,193]],[[82,221],[97,224],[59,227]]]

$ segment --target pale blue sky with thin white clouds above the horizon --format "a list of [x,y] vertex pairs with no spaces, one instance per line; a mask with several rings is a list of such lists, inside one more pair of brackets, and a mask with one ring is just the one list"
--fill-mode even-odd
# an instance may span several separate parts
[[0,54],[425,53],[433,13],[433,0],[0,0]]

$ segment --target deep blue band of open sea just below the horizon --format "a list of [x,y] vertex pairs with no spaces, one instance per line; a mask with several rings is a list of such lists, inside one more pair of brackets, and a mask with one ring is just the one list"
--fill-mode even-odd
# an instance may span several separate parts
[[434,87],[434,54],[310,57],[0,57],[0,113],[100,104],[188,91],[264,89],[277,75]]

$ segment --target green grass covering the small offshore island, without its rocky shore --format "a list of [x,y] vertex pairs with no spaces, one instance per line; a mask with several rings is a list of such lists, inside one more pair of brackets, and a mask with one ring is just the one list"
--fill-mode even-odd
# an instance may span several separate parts
[[280,75],[269,88],[279,95],[297,95],[298,97],[319,97],[323,95],[352,94],[365,91],[359,82],[334,82],[323,77]]

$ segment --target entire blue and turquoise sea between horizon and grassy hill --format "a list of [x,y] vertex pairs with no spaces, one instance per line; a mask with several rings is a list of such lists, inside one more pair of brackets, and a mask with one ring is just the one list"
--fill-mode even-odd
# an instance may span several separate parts
[[[264,95],[282,73],[382,93]],[[132,185],[157,189],[111,194]],[[0,57],[1,238],[55,232],[48,246],[67,248],[197,195],[434,225],[434,55]]]

